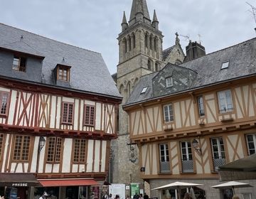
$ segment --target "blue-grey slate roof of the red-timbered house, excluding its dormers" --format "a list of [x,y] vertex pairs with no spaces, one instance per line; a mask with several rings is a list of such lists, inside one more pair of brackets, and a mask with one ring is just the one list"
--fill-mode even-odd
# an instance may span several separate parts
[[68,89],[121,98],[100,53],[54,41],[3,23],[0,23],[1,47],[45,57],[42,72],[47,85],[56,86],[52,70],[65,58],[65,62],[72,66]]

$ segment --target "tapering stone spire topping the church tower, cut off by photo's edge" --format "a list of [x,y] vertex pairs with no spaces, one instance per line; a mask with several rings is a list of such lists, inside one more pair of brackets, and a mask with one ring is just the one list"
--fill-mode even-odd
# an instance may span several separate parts
[[144,22],[151,23],[150,16],[149,16],[149,9],[146,5],[146,0],[132,1],[132,9],[131,9],[131,15],[129,18],[129,25],[132,25],[137,22],[138,14],[143,16]]

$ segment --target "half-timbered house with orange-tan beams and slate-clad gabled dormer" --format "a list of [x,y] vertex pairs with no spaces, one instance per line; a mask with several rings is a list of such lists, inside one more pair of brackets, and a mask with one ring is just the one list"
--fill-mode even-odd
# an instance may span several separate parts
[[[230,197],[211,186],[219,166],[255,153],[255,88],[256,38],[141,77],[124,110],[151,197],[175,181],[203,184],[197,198]],[[253,188],[237,193],[256,195]],[[161,199],[174,196],[161,190]]]

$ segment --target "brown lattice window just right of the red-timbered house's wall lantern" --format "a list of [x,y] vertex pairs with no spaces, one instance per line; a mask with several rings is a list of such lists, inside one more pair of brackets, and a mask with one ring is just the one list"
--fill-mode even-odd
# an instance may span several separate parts
[[61,156],[62,139],[60,137],[49,137],[47,149],[47,162],[59,163]]

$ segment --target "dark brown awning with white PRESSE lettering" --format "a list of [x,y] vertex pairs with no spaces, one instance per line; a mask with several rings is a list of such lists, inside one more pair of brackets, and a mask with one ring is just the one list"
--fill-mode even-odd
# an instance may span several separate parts
[[0,186],[41,186],[33,173],[0,173]]

